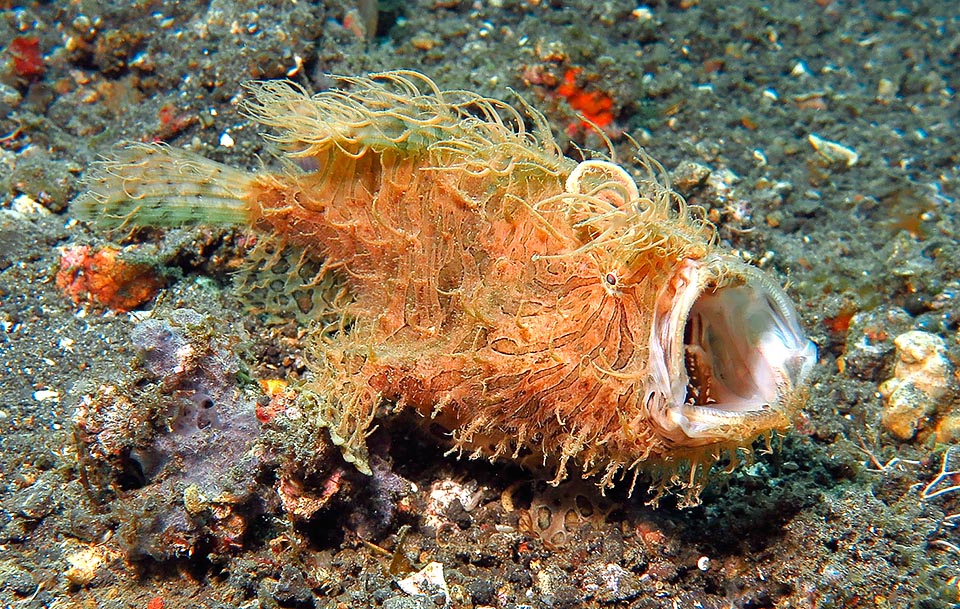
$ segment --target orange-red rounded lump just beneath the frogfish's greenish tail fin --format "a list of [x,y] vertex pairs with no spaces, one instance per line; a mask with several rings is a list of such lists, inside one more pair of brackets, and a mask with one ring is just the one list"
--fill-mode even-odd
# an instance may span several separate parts
[[88,299],[120,312],[137,308],[163,287],[150,265],[123,260],[116,248],[89,245],[61,251],[56,282],[74,302]]

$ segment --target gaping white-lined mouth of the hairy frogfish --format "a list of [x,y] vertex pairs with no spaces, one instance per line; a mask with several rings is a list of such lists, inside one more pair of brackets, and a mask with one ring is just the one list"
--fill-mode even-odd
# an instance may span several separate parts
[[749,444],[784,429],[817,359],[797,313],[763,271],[724,254],[687,259],[658,297],[651,420],[670,444]]

